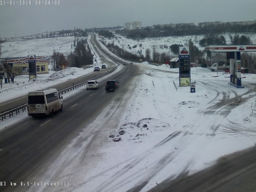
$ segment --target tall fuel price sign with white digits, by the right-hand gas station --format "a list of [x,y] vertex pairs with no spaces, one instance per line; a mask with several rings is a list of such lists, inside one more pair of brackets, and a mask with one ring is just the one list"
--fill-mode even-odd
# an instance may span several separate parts
[[179,47],[180,86],[190,86],[190,47]]

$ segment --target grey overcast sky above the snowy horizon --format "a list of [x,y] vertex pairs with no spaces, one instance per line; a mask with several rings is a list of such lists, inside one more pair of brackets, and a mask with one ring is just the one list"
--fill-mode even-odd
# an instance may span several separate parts
[[10,5],[10,0],[0,5],[1,38],[74,27],[124,26],[125,22],[132,21],[141,21],[145,27],[256,20],[256,0],[60,0],[60,5],[54,5],[55,0],[51,0],[50,5],[45,5],[45,0],[41,0],[41,5],[39,0],[31,0],[31,5],[19,5],[20,0],[12,2],[15,5]]

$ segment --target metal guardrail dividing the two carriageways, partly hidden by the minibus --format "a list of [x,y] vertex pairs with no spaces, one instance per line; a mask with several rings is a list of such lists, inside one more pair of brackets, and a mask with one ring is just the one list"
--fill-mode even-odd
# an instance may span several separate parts
[[[102,78],[102,77],[104,77],[104,76],[106,76],[106,75],[112,73],[112,72],[113,72],[114,70],[116,70],[116,69],[117,69],[117,67],[114,67],[113,69],[111,69],[110,71],[107,71],[106,73],[103,73],[103,74],[101,74],[101,75],[95,76],[94,78],[88,79],[88,80],[86,80],[86,81],[80,82],[79,84],[75,84],[75,85],[73,85],[73,86],[70,86],[70,87],[67,87],[67,88],[65,88],[65,89],[59,90],[59,93],[63,95],[63,94],[65,94],[66,92],[69,92],[69,91],[71,91],[71,90],[74,90],[74,89],[76,89],[76,88],[79,88],[79,87],[81,87],[81,86],[86,85],[86,82],[87,82],[87,81],[100,79],[100,78]],[[26,110],[27,110],[27,103],[24,103],[24,104],[22,104],[22,105],[20,105],[20,106],[11,108],[11,109],[9,109],[9,110],[7,110],[7,111],[4,111],[4,112],[0,113],[0,120],[4,121],[4,119],[6,119],[6,117],[9,117],[9,118],[10,118],[10,117],[14,116],[14,114],[17,115],[17,114],[19,114],[20,112],[24,112],[24,111],[26,111]]]

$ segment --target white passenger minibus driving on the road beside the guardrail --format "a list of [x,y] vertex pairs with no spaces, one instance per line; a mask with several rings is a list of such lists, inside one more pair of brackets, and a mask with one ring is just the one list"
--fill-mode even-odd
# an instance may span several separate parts
[[62,111],[63,97],[60,97],[57,89],[44,89],[28,93],[27,110],[28,116],[44,116],[53,117],[55,111]]

